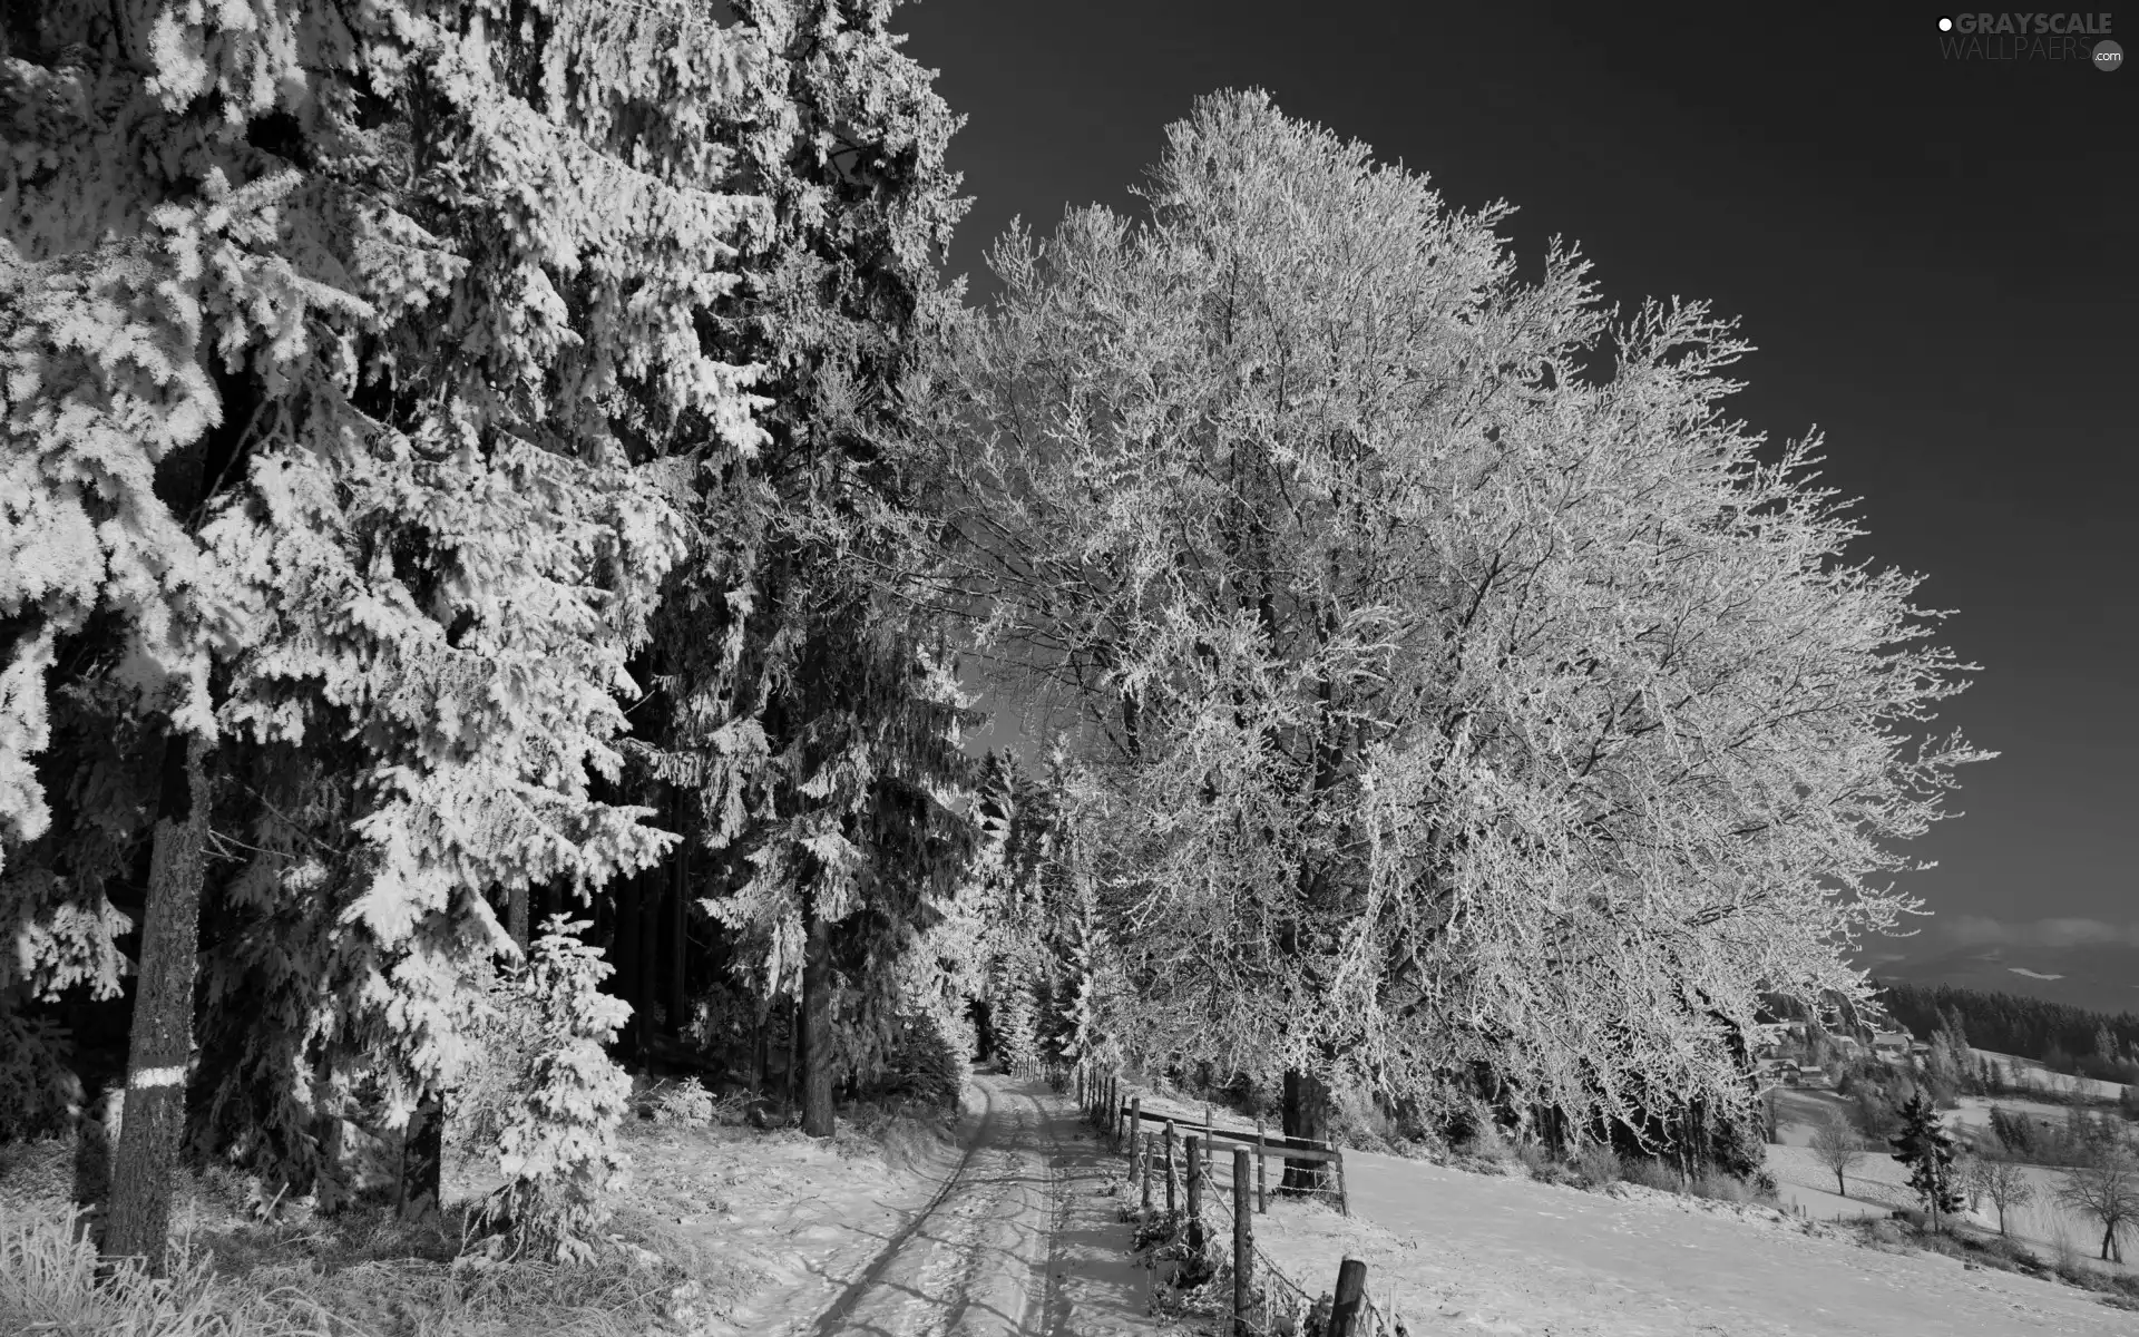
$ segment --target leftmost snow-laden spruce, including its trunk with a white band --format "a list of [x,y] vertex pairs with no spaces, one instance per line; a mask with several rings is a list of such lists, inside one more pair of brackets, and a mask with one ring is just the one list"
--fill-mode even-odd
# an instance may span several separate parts
[[[291,47],[319,39],[276,19],[203,49],[158,4],[11,9],[0,58],[0,993],[120,993],[126,918],[107,892],[133,883],[103,1234],[156,1271],[193,1057],[214,676],[257,635],[259,590],[205,535],[261,428],[233,387],[312,394],[338,329],[370,314],[323,272],[297,178],[246,139]],[[53,725],[96,744],[41,757]]]

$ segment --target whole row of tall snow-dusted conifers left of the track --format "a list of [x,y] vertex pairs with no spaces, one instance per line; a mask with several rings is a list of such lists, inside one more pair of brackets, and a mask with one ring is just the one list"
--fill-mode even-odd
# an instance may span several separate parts
[[188,1093],[323,1202],[398,1129],[432,1202],[539,913],[627,1050],[710,916],[817,1134],[898,1029],[969,821],[907,436],[963,203],[890,11],[9,6],[0,1016],[53,1078],[122,1001],[109,1249]]

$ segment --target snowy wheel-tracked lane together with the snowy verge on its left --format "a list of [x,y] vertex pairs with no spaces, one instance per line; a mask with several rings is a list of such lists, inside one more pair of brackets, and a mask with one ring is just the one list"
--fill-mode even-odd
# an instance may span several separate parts
[[956,1138],[642,1138],[693,1236],[699,1337],[1151,1337],[1121,1159],[1040,1082],[973,1074]]

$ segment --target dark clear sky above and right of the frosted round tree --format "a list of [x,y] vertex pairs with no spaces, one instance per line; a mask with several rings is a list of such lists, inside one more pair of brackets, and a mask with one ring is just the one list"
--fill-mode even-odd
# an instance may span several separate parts
[[[969,118],[952,267],[975,295],[1012,216],[1132,208],[1168,122],[1260,86],[1457,205],[1519,205],[1532,261],[1581,242],[1613,302],[1739,314],[1737,413],[1827,434],[1861,556],[1929,575],[1983,665],[1946,721],[2004,755],[1906,886],[1974,941],[1985,918],[2133,935],[2139,71],[1949,60],[1942,13],[926,0],[903,26]],[[2139,47],[2139,9],[2111,24]]]

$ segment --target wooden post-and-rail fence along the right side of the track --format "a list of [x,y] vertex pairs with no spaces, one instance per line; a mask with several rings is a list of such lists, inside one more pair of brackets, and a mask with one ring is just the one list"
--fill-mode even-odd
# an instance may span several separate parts
[[[1335,1194],[1339,1211],[1350,1215],[1341,1147],[1309,1138],[1271,1138],[1260,1127],[1253,1134],[1215,1127],[1209,1115],[1202,1123],[1189,1123],[1147,1112],[1142,1095],[1134,1093],[1121,1074],[1084,1063],[1057,1089],[1070,1087],[1076,1089],[1084,1119],[1106,1132],[1114,1151],[1129,1157],[1134,1204],[1123,1202],[1123,1217],[1134,1215],[1138,1221],[1138,1243],[1172,1256],[1179,1262],[1176,1279],[1187,1279],[1191,1290],[1209,1288],[1213,1303],[1226,1303],[1234,1337],[1405,1337],[1403,1320],[1375,1305],[1367,1292],[1367,1264],[1358,1258],[1343,1260],[1333,1290],[1309,1298],[1309,1290],[1286,1275],[1256,1243],[1253,1217],[1268,1211],[1264,1168],[1273,1157],[1328,1166],[1335,1185],[1305,1185],[1305,1192]],[[1219,1140],[1230,1144],[1228,1194],[1204,1192],[1217,1187],[1211,1151]],[[1249,1207],[1249,1162],[1253,1162],[1253,1207]],[[1157,1215],[1155,1177],[1164,1177],[1164,1217]],[[1303,1185],[1294,1183],[1288,1192],[1303,1192]],[[1209,1217],[1224,1224],[1224,1234],[1211,1230]],[[1230,1249],[1221,1243],[1226,1236],[1232,1241]]]

